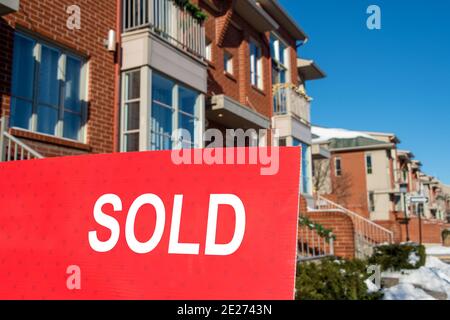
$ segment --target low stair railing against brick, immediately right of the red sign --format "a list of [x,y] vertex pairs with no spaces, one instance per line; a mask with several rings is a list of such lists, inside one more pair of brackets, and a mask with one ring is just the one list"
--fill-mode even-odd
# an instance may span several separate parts
[[308,226],[298,229],[298,261],[318,260],[334,256],[334,240],[320,236]]

